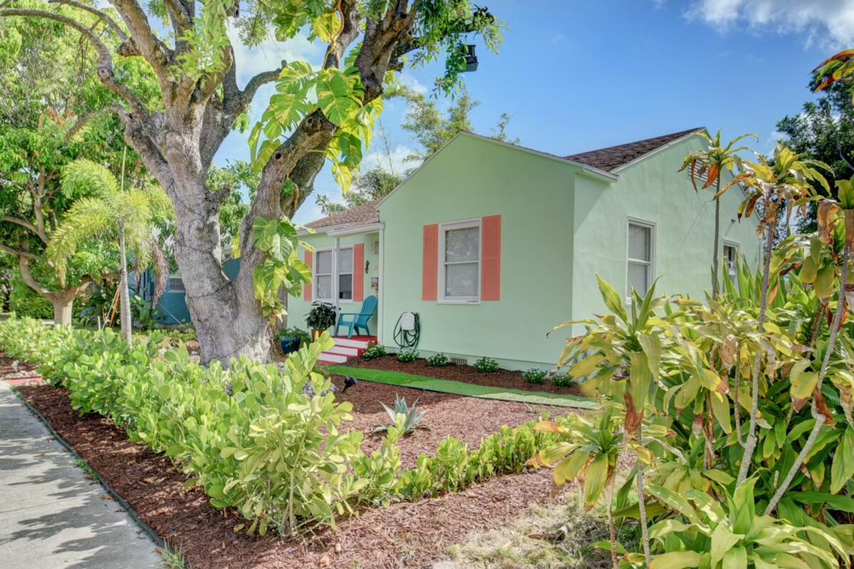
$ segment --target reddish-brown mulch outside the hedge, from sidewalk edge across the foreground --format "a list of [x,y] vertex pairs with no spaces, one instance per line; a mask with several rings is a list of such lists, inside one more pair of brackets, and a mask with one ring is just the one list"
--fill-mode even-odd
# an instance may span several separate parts
[[[184,489],[187,477],[167,458],[131,443],[123,431],[99,415],[80,417],[71,408],[66,390],[38,385],[20,391],[161,537],[184,551],[194,569],[429,567],[469,532],[504,525],[532,504],[545,501],[551,485],[549,472],[529,472],[435,500],[372,509],[342,521],[338,531],[323,531],[307,540],[247,537],[233,531],[243,521],[236,513],[212,507],[201,489]],[[348,390],[344,395],[368,398],[371,392],[354,390],[351,395]],[[476,409],[471,414],[477,417],[480,412]],[[465,434],[460,431],[466,428],[456,434]]]

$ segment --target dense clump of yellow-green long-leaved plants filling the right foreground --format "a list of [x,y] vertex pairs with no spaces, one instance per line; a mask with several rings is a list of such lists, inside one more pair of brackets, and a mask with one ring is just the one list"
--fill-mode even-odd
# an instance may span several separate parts
[[[600,279],[608,314],[583,321],[559,366],[600,399],[611,436],[638,457],[638,502],[613,516],[639,519],[642,552],[624,553],[613,532],[613,566],[850,566],[854,180],[831,200],[821,166],[782,146],[773,161],[744,162],[740,214],[762,214],[766,254],[717,299],[656,297],[653,287],[627,310]],[[777,213],[806,201],[819,202],[819,231],[775,249]],[[611,472],[591,471],[588,437],[570,431],[534,463],[557,465],[558,485],[612,488]]]

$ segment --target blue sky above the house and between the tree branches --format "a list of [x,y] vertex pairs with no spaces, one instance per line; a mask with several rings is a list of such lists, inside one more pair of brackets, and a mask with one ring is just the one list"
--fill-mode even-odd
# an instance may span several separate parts
[[[473,125],[488,134],[509,113],[513,137],[559,155],[694,126],[722,128],[725,138],[755,132],[754,148],[769,152],[776,121],[811,98],[810,70],[854,41],[854,0],[504,0],[488,7],[508,29],[500,53],[481,46],[479,69],[465,75],[481,102]],[[240,78],[282,59],[319,62],[322,53],[303,38],[238,50]],[[431,90],[441,72],[442,62],[401,79]],[[254,116],[271,91],[259,91]],[[400,128],[405,112],[404,103],[392,102],[383,114],[397,158],[415,147]],[[248,155],[246,137],[234,133],[217,161]],[[376,153],[368,156],[375,160]],[[328,166],[316,191],[341,196]],[[317,217],[309,197],[295,220]]]

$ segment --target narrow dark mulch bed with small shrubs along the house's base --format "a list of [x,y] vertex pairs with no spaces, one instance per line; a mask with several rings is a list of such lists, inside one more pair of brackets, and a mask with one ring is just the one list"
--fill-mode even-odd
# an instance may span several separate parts
[[352,358],[345,366],[370,367],[371,369],[384,369],[389,372],[412,373],[413,375],[424,375],[428,378],[453,379],[463,381],[467,384],[488,385],[490,387],[510,387],[517,390],[545,391],[547,393],[567,393],[570,395],[581,395],[578,386],[557,387],[550,381],[542,384],[529,384],[522,377],[522,372],[512,372],[500,369],[494,373],[481,373],[471,366],[458,366],[453,363],[444,367],[430,366],[426,360],[403,362],[398,361],[396,355],[384,355],[373,360]]

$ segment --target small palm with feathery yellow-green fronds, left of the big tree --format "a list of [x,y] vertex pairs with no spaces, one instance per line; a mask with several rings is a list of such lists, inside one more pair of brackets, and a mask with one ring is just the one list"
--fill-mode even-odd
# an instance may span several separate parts
[[127,284],[127,254],[138,270],[149,267],[155,251],[154,223],[173,215],[172,202],[160,188],[143,190],[125,187],[124,159],[121,181],[106,167],[79,159],[62,171],[62,191],[81,195],[56,228],[48,247],[48,258],[64,281],[68,258],[91,239],[118,238],[120,250],[121,333],[131,343],[131,299]]

